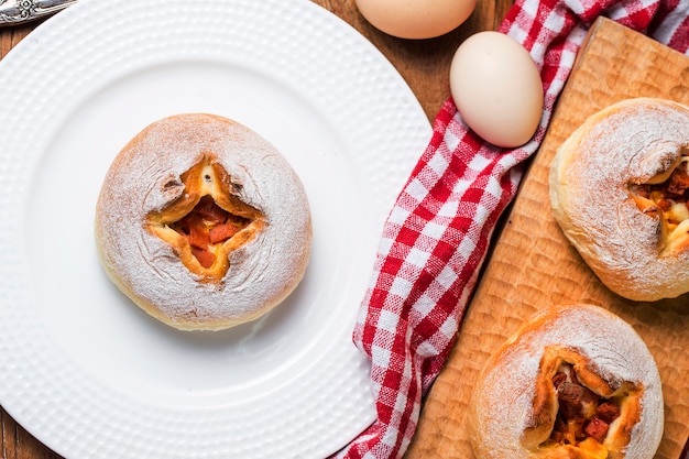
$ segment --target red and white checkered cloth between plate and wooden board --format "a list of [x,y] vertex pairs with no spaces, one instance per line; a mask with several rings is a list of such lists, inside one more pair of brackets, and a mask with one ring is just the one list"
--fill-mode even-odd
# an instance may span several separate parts
[[448,99],[386,221],[353,334],[371,358],[378,420],[339,459],[400,458],[423,395],[455,342],[500,215],[515,196],[593,21],[605,15],[689,53],[689,0],[517,0],[500,32],[531,53],[545,91],[534,139],[501,150],[468,131]]

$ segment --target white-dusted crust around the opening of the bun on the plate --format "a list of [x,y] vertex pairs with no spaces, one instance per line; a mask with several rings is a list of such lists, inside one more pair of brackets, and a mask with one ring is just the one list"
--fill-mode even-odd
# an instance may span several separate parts
[[[182,196],[182,174],[209,153],[236,196],[266,223],[230,252],[220,283],[198,282],[168,243],[144,229],[151,212]],[[306,193],[270,143],[237,122],[196,113],[153,123],[120,152],[102,185],[96,234],[106,271],[140,306],[182,328],[212,328],[255,318],[296,286],[311,228]]]

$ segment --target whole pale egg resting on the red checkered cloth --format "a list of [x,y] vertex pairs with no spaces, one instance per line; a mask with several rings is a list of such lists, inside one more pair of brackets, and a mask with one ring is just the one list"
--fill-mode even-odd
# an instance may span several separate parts
[[450,65],[450,91],[467,125],[494,145],[523,145],[538,129],[538,68],[526,48],[503,33],[479,32],[459,46]]

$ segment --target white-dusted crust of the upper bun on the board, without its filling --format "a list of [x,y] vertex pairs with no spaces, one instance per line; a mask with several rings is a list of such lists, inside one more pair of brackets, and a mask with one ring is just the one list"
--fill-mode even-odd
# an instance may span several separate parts
[[667,171],[687,145],[689,108],[637,98],[589,118],[553,162],[556,220],[601,281],[622,296],[655,300],[689,291],[689,250],[661,252],[660,217],[642,214],[628,190]]

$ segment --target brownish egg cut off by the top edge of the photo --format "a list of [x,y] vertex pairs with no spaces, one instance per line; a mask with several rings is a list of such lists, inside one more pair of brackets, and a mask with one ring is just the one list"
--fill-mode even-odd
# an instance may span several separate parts
[[433,39],[463,23],[477,0],[356,0],[374,28],[401,39]]

